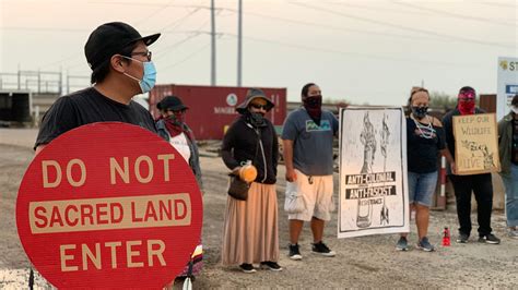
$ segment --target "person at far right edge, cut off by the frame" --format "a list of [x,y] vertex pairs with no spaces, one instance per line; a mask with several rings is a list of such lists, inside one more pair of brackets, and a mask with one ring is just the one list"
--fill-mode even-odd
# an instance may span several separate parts
[[498,122],[498,136],[508,235],[518,239],[518,95],[513,97],[510,112]]

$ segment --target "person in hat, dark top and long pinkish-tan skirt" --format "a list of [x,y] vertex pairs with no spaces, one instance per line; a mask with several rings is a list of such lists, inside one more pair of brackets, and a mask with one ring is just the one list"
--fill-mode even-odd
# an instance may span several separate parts
[[223,230],[222,264],[238,266],[244,273],[260,268],[280,271],[278,201],[275,192],[279,142],[273,124],[264,114],[274,104],[257,88],[247,92],[236,110],[239,117],[226,132],[222,158],[238,172],[251,162],[257,178],[250,184],[248,198],[228,196]]

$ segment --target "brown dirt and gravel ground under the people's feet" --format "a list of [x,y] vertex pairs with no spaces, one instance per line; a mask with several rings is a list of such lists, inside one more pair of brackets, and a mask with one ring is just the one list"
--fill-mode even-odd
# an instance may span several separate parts
[[[30,263],[15,227],[15,200],[23,173],[33,157],[34,130],[0,130],[0,289],[27,288]],[[303,261],[287,258],[287,220],[282,209],[284,167],[279,167],[280,273],[258,270],[244,274],[220,263],[223,213],[226,203],[226,179],[221,158],[201,158],[204,189],[203,250],[204,267],[197,277],[195,289],[209,288],[518,288],[518,240],[505,235],[505,217],[494,212],[493,229],[502,244],[480,244],[471,237],[468,244],[440,245],[442,229],[457,229],[457,217],[450,208],[432,212],[429,239],[436,252],[425,253],[413,246],[397,252],[396,234],[337,239],[337,215],[327,225],[326,243],[337,256],[310,254],[311,234],[307,227],[302,234]],[[335,177],[337,178],[337,177]],[[337,182],[337,180],[335,180]],[[335,183],[338,184],[338,183]],[[335,193],[338,186],[335,186]],[[472,220],[476,223],[475,215]],[[476,229],[476,225],[474,225]],[[416,241],[412,226],[410,241]],[[455,237],[452,237],[455,238]],[[454,239],[452,239],[454,240]],[[50,288],[38,275],[36,288]]]

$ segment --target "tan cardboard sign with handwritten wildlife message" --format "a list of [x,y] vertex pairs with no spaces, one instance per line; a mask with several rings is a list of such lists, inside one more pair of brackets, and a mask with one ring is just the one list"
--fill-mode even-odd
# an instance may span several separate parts
[[454,116],[454,136],[457,174],[501,171],[494,113]]

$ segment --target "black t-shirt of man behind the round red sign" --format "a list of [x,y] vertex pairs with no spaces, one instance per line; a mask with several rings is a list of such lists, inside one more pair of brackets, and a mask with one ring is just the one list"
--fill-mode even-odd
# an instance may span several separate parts
[[120,104],[89,87],[56,100],[43,117],[34,148],[74,128],[110,121],[140,125],[156,133],[155,122],[144,107],[133,100],[129,105]]

